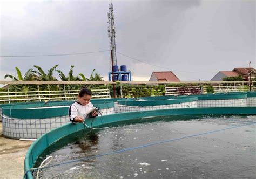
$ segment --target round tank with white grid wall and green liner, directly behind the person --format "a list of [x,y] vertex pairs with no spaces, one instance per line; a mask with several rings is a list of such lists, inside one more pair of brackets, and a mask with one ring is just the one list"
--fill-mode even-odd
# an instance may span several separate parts
[[[3,135],[12,139],[37,139],[52,129],[70,123],[68,108],[73,101],[2,107]],[[102,115],[114,113],[114,102],[94,102]]]

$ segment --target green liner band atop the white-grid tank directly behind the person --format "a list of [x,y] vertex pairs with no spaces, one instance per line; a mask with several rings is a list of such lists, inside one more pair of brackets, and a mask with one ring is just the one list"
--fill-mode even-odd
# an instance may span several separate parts
[[[53,102],[53,103],[36,103],[28,105],[16,105],[16,106],[6,106],[2,108],[2,113],[10,118],[18,119],[45,119],[66,116],[68,114],[69,106],[75,101],[65,101],[65,102]],[[99,109],[114,107],[114,102],[104,102],[95,101],[94,106],[99,107]],[[66,106],[58,107],[55,106]],[[53,108],[45,108],[53,107]]]

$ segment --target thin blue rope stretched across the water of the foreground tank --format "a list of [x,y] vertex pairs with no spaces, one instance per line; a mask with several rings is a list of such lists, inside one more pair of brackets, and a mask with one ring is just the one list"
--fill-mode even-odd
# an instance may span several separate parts
[[[232,121],[235,121],[235,120],[232,120]],[[248,122],[248,121],[244,121],[244,122]],[[234,129],[234,128],[238,128],[238,127],[250,126],[250,125],[255,125],[255,124],[256,124],[256,122],[250,122],[250,123],[247,123],[247,124],[245,124],[245,125],[227,127],[227,128],[224,128],[224,129],[213,130],[213,131],[206,132],[206,133],[188,135],[188,136],[179,137],[179,138],[176,138],[176,139],[170,139],[170,140],[164,140],[164,141],[159,141],[159,142],[147,143],[147,144],[145,144],[145,145],[143,145],[143,146],[137,146],[137,147],[126,148],[126,149],[117,150],[117,151],[109,152],[109,153],[105,153],[105,154],[99,154],[99,155],[91,156],[91,157],[83,157],[82,159],[71,160],[71,161],[68,161],[68,162],[53,164],[52,166],[45,166],[45,167],[42,167],[42,168],[31,168],[31,169],[29,169],[29,170],[27,170],[27,171],[25,172],[24,177],[26,176],[26,174],[27,174],[29,171],[33,171],[33,170],[39,170],[39,169],[45,169],[45,168],[50,168],[50,167],[56,167],[56,166],[60,166],[60,165],[63,165],[63,164],[69,164],[69,163],[78,162],[78,161],[90,160],[90,159],[93,159],[93,158],[98,158],[98,157],[102,157],[102,156],[106,156],[106,155],[113,155],[113,154],[118,154],[118,153],[126,152],[126,151],[129,151],[129,150],[134,150],[134,149],[139,149],[139,148],[154,146],[154,145],[156,145],[156,144],[161,144],[161,143],[166,143],[166,142],[173,142],[173,141],[178,141],[178,140],[181,140],[181,139],[188,139],[188,138],[190,138],[190,137],[196,137],[196,136],[200,136],[200,135],[212,134],[212,133],[217,133],[217,132],[221,132],[221,131],[228,130],[228,129]]]

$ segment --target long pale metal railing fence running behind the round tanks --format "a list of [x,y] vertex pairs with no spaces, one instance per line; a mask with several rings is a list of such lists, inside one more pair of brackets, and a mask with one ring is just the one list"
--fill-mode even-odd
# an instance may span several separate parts
[[[64,85],[64,90],[58,91],[16,91],[10,92],[8,86],[5,87],[7,92],[0,92],[0,103],[5,102],[24,102],[24,101],[42,101],[42,100],[75,100],[79,90],[66,90],[65,85],[78,84],[78,85],[120,85],[120,97],[142,97],[142,96],[155,96],[155,95],[190,95],[190,94],[205,94],[208,88],[212,88],[214,93],[221,92],[246,92],[250,90],[256,91],[256,81],[0,81],[0,84],[5,85],[42,85],[42,84],[55,84]],[[122,84],[139,85],[146,84],[151,87],[146,88],[125,88],[122,89]],[[155,87],[152,87],[152,84]],[[163,86],[157,86],[164,85]],[[63,88],[62,88],[63,89]],[[112,90],[112,89],[111,89]],[[110,89],[92,89],[92,98],[111,98]]]

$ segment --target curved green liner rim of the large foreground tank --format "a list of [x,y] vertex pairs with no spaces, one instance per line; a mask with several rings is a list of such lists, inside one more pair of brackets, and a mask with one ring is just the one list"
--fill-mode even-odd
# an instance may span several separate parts
[[[214,107],[214,108],[184,108],[184,109],[160,109],[144,112],[128,112],[99,116],[94,119],[87,119],[87,125],[97,128],[102,125],[115,126],[120,121],[129,121],[139,118],[151,118],[156,116],[168,115],[255,115],[256,107]],[[100,120],[97,120],[100,118]],[[93,122],[93,123],[92,123]],[[50,145],[55,144],[61,138],[83,130],[84,125],[78,123],[68,123],[67,125],[53,129],[39,137],[31,144],[24,159],[24,171],[31,169],[37,157]],[[26,178],[33,178],[30,171],[26,174]]]

